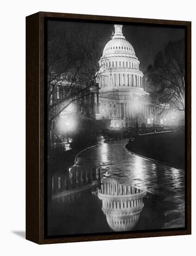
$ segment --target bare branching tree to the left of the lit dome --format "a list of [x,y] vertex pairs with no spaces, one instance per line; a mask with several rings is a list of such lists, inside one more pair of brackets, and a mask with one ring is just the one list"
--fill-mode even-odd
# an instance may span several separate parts
[[91,93],[98,75],[98,35],[88,26],[48,30],[48,127],[65,108]]

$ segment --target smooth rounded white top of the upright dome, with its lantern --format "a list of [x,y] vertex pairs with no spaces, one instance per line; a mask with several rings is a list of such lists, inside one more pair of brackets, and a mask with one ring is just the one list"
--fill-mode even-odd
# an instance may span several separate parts
[[125,40],[125,37],[122,33],[123,25],[114,25],[115,34],[112,36],[112,39],[105,45],[103,56],[110,54],[126,54],[128,57],[136,58],[135,51],[131,43]]

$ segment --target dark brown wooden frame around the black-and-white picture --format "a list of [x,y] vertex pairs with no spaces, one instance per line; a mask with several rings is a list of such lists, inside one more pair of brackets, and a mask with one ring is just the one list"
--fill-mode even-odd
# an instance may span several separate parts
[[[85,20],[89,22],[127,22],[149,26],[184,27],[186,33],[186,178],[185,216],[183,230],[115,232],[47,238],[46,214],[46,131],[45,131],[45,20],[47,18]],[[152,20],[140,18],[110,17],[97,15],[39,12],[26,17],[26,239],[38,244],[70,243],[155,236],[177,236],[191,234],[191,22],[175,20]]]

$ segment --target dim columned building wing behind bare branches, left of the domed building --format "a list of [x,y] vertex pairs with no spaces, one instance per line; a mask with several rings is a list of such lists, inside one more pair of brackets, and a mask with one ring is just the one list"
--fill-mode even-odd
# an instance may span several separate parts
[[[48,90],[48,115],[49,119],[55,116],[52,118],[52,130],[66,131],[67,124],[70,125],[73,120],[76,123],[78,118],[80,120],[96,118],[96,113],[99,111],[98,83],[93,83],[86,88],[77,78],[74,78],[73,82],[72,74],[67,73],[61,74],[58,81],[54,79],[50,86],[52,93]],[[74,127],[76,128],[76,125]]]

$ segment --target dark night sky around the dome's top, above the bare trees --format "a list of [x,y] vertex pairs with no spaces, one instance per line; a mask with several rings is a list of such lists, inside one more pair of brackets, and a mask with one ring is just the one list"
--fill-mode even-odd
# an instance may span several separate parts
[[[123,24],[123,23],[121,23]],[[103,50],[105,44],[111,39],[111,30],[114,32],[114,24],[110,23],[90,23],[76,21],[48,21],[48,31],[50,28],[58,28],[67,30],[91,31],[91,35],[98,36],[99,47]],[[139,26],[139,25],[123,25],[123,35],[133,46],[136,56],[140,61],[140,70],[145,69],[153,64],[155,55],[162,51],[165,45],[170,41],[175,41],[185,36],[183,28],[174,27],[155,27],[155,26]],[[78,38],[79,40],[79,38]],[[102,52],[101,52],[102,53]],[[101,57],[101,55],[100,55]]]

